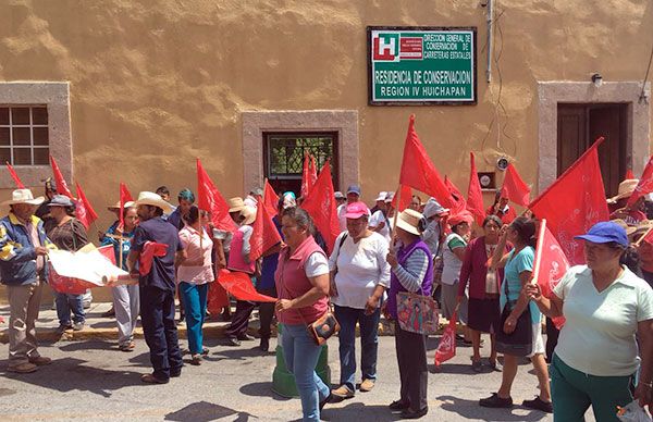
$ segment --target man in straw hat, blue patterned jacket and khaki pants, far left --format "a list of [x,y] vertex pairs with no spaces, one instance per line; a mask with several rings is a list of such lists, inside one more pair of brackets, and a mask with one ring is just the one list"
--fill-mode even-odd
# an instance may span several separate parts
[[37,350],[35,322],[47,280],[46,255],[56,249],[46,236],[42,221],[34,215],[44,197],[34,198],[29,189],[16,189],[9,215],[0,220],[0,278],[9,299],[9,368],[28,373],[51,360]]

